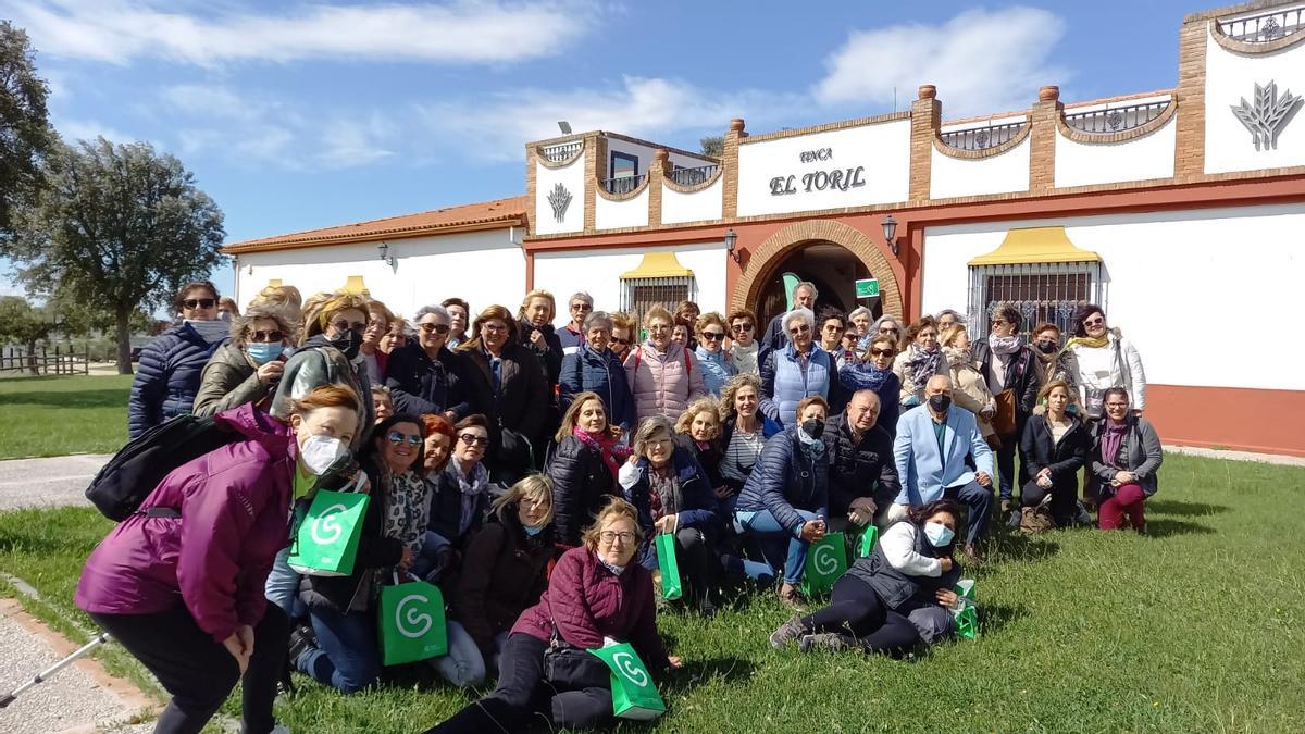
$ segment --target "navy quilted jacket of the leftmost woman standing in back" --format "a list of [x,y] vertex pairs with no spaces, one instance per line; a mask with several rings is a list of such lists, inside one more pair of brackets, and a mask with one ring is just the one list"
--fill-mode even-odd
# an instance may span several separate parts
[[127,401],[128,439],[194,407],[204,366],[221,343],[204,341],[189,324],[183,324],[163,332],[141,350],[141,363]]

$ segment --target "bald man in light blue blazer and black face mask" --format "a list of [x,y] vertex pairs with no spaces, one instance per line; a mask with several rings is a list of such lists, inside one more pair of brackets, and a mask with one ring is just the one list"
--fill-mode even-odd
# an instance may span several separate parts
[[[970,508],[964,552],[979,560],[979,542],[988,529],[992,505],[992,449],[979,432],[974,413],[951,405],[951,377],[934,375],[924,387],[925,405],[898,419],[893,444],[902,491],[889,521],[906,516],[908,505],[955,499]],[[972,456],[977,471],[966,465]]]

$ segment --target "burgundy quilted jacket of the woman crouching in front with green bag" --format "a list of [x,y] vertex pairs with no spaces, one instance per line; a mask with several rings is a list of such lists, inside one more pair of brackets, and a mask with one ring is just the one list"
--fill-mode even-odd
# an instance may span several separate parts
[[548,641],[553,624],[573,646],[602,648],[606,636],[629,641],[649,670],[669,665],[656,635],[652,575],[634,560],[615,576],[585,546],[564,552],[539,603],[521,613],[512,631]]

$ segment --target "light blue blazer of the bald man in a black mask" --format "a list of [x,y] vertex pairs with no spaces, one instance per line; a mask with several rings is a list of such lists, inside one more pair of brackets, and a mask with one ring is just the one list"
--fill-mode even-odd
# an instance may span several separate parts
[[975,471],[966,466],[970,455],[979,471],[993,475],[992,449],[979,432],[974,413],[955,405],[947,410],[940,452],[928,406],[907,410],[898,419],[898,435],[893,440],[893,460],[902,482],[894,502],[928,504],[941,499],[947,487],[968,485],[975,478]]

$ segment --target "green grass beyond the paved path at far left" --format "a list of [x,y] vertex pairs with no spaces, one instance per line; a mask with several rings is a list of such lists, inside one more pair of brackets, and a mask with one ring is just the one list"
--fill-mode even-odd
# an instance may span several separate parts
[[114,453],[127,443],[132,375],[0,380],[0,460]]

